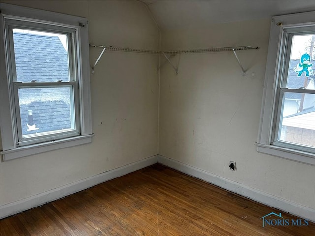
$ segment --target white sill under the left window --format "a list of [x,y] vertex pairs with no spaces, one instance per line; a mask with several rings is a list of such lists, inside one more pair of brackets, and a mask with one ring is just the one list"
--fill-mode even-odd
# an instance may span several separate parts
[[91,143],[93,136],[95,136],[95,134],[18,147],[7,151],[1,151],[1,155],[3,157],[3,161],[13,160],[24,156]]

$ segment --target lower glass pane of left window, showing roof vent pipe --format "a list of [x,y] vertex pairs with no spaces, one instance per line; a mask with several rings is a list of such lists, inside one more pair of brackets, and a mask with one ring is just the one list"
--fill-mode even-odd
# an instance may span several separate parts
[[72,87],[19,88],[22,137],[75,129]]

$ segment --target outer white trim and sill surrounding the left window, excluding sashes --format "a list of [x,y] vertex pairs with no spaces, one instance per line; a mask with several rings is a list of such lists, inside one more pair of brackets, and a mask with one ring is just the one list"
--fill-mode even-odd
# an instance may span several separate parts
[[[78,52],[80,57],[80,67],[78,68],[79,94],[80,94],[80,125],[81,135],[65,138],[51,142],[35,145],[28,145],[17,148],[14,127],[14,107],[10,99],[11,90],[8,84],[8,69],[6,68],[6,57],[4,47],[4,16],[14,16],[14,18],[33,19],[46,24],[68,26],[78,31]],[[0,80],[1,80],[1,155],[3,161],[11,160],[32,154],[38,154],[54,149],[66,148],[92,140],[92,118],[91,118],[91,94],[90,94],[90,65],[89,65],[89,39],[88,21],[85,18],[70,16],[61,13],[43,11],[27,7],[9,5],[1,3],[1,31],[0,31]]]

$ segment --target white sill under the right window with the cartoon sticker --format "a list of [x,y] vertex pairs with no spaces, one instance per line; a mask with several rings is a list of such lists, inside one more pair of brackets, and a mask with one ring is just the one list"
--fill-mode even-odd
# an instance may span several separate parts
[[255,143],[255,145],[257,146],[257,152],[315,166],[315,154],[274,145],[258,143]]

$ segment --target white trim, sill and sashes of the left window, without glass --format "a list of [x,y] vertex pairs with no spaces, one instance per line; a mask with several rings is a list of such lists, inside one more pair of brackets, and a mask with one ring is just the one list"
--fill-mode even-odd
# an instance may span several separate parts
[[[1,51],[1,155],[2,160],[11,160],[23,156],[55,150],[59,148],[66,148],[84,143],[90,143],[94,134],[92,133],[92,118],[91,118],[91,98],[90,98],[90,65],[89,65],[89,43],[88,43],[88,21],[85,18],[70,16],[61,13],[49,12],[44,10],[37,10],[27,7],[9,5],[1,3],[1,35],[0,35],[0,51]],[[51,137],[50,139],[43,139],[42,142],[34,144],[33,142],[27,142],[24,146],[18,144],[17,139],[17,127],[16,127],[16,101],[14,99],[14,87],[22,86],[27,87],[27,84],[13,82],[10,84],[12,76],[12,65],[6,63],[11,58],[9,52],[5,50],[6,40],[5,37],[5,20],[9,21],[20,20],[25,22],[26,28],[30,25],[47,26],[49,29],[73,29],[76,31],[76,37],[71,40],[75,40],[75,45],[72,48],[72,54],[76,54],[77,60],[72,64],[75,64],[72,68],[74,80],[69,81],[69,84],[75,84],[73,81],[77,81],[74,89],[78,90],[75,99],[78,102],[74,103],[75,109],[78,111],[76,115],[77,126],[80,130],[78,135],[70,137],[67,135],[58,135],[58,137]],[[34,30],[40,30],[40,28],[33,28]],[[11,48],[12,49],[12,48]],[[13,52],[14,53],[14,52]],[[12,60],[11,60],[12,61]],[[15,66],[15,65],[13,65]],[[15,68],[15,67],[14,67]],[[70,72],[71,73],[71,72]],[[45,85],[43,85],[43,83]],[[52,86],[52,83],[38,83],[36,86]],[[63,82],[57,82],[57,84],[63,84]],[[55,85],[57,85],[55,84]],[[64,83],[66,84],[66,83]],[[18,108],[19,109],[19,108]]]

